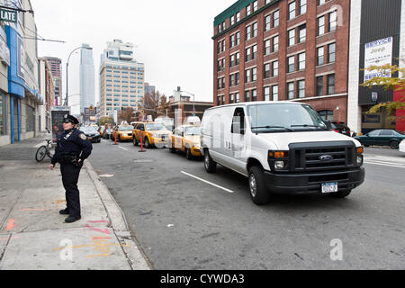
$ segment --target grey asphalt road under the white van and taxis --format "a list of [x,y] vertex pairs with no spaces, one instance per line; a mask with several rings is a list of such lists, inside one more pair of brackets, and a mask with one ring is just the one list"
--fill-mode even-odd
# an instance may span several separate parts
[[[365,184],[347,199],[277,195],[263,207],[251,202],[246,178],[221,166],[208,175],[202,160],[167,149],[139,153],[103,140],[90,161],[156,269],[405,268],[398,151],[367,148]],[[334,239],[342,260],[330,257]]]

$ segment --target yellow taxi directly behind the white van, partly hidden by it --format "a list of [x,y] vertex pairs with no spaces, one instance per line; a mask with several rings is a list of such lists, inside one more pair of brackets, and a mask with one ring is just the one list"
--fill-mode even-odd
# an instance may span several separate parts
[[175,153],[176,150],[183,151],[189,160],[193,157],[201,157],[200,133],[201,128],[199,126],[183,125],[177,127],[169,139],[169,151],[171,153]]

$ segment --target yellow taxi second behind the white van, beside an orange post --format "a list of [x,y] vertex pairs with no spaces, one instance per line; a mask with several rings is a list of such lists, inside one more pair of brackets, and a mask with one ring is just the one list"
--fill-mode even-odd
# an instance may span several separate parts
[[155,122],[139,122],[135,125],[132,131],[133,145],[138,146],[142,139],[145,148],[153,146],[164,148],[167,145],[167,140],[172,135],[172,132],[160,123]]

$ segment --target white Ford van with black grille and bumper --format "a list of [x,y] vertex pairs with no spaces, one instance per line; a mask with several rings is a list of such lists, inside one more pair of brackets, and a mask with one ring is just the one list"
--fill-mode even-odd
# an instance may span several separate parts
[[201,150],[208,173],[217,164],[247,176],[253,202],[271,193],[347,197],[365,182],[363,147],[328,128],[306,103],[254,102],[208,109]]

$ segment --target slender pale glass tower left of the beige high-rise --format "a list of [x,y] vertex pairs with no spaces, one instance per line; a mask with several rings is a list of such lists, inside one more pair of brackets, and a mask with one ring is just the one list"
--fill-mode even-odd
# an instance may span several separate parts
[[93,49],[83,44],[80,51],[80,112],[95,105]]

